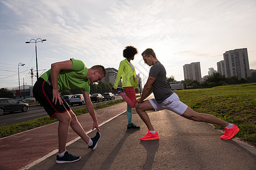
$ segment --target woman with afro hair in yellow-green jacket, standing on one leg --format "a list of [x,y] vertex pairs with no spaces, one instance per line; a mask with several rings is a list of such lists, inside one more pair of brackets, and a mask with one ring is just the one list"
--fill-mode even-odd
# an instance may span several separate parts
[[[131,121],[131,109],[135,108],[135,103],[136,103],[136,95],[135,92],[138,93],[138,81],[136,78],[136,73],[135,73],[135,67],[133,64],[130,62],[131,60],[134,59],[134,56],[138,54],[138,50],[134,48],[133,46],[126,46],[125,49],[123,50],[123,59],[120,64],[119,64],[119,69],[117,73],[117,78],[115,78],[115,84],[114,84],[114,90],[117,92],[119,95],[123,97],[123,99],[127,103],[127,120],[128,120],[128,125],[127,129],[139,129],[139,126],[136,126],[133,124]],[[122,87],[119,88],[118,83],[121,79],[122,76]],[[123,93],[125,91],[125,94]]]

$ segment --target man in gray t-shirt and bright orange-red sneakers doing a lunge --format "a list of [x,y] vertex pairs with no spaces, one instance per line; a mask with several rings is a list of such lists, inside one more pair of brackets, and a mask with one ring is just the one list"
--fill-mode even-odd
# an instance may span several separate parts
[[[222,126],[225,129],[225,133],[221,136],[221,139],[231,139],[238,133],[239,129],[236,125],[229,124],[211,114],[197,113],[182,103],[179,97],[171,91],[167,83],[166,69],[156,58],[154,50],[144,50],[142,57],[147,65],[152,66],[141,98],[135,104],[139,117],[142,118],[148,128],[148,133],[141,138],[142,141],[159,139],[158,133],[153,128],[146,111],[161,111],[163,109],[168,109],[189,120]],[[145,100],[151,92],[153,92],[155,99]]]

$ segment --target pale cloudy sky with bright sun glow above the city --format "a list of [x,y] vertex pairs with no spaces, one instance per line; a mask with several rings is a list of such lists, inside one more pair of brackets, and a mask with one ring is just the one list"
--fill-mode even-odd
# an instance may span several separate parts
[[39,75],[70,58],[118,69],[129,45],[139,52],[131,63],[142,86],[147,48],[177,81],[185,64],[200,62],[201,75],[208,75],[233,49],[247,48],[256,69],[256,1],[0,0],[0,88],[18,87],[18,69],[20,84],[36,82],[35,43],[25,42],[38,38],[47,40],[36,43]]

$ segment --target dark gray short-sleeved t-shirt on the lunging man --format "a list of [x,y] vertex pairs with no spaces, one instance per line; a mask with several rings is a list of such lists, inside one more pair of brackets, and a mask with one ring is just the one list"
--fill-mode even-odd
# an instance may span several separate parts
[[158,103],[163,102],[174,93],[167,83],[166,69],[159,61],[151,67],[149,76],[156,78],[152,84],[152,91]]

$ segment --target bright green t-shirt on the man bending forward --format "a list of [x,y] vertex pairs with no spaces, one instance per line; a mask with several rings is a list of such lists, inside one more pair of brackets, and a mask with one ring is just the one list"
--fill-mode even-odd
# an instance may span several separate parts
[[[86,78],[88,68],[84,65],[84,62],[78,59],[71,58],[73,62],[72,70],[61,70],[58,77],[58,90],[65,91],[74,88],[80,88],[84,92],[90,92],[90,80]],[[40,76],[46,80],[49,85],[51,82],[51,69]]]

